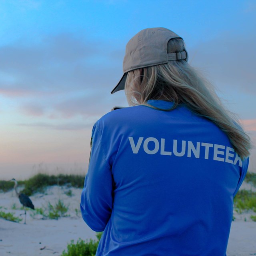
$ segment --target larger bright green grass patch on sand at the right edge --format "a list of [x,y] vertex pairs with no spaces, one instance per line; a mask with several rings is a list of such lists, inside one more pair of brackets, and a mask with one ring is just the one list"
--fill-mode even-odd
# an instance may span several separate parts
[[256,192],[239,190],[234,198],[234,209],[238,213],[242,213],[244,210],[256,212]]

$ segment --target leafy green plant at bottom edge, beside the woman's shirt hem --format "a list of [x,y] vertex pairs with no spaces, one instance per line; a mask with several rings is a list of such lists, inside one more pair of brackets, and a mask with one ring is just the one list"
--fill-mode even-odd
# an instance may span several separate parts
[[101,236],[102,232],[96,234],[97,240],[84,241],[79,238],[76,244],[71,240],[67,246],[67,252],[64,250],[61,256],[95,256]]

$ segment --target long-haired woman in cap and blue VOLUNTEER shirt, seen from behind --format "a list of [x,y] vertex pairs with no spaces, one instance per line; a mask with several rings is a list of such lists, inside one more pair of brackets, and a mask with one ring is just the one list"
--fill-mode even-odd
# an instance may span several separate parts
[[81,198],[104,231],[96,255],[225,255],[250,139],[188,62],[183,39],[148,28],[126,46],[132,107],[96,122]]

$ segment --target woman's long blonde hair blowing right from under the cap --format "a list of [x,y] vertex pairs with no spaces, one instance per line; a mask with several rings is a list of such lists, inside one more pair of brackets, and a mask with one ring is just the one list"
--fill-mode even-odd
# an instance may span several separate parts
[[[184,49],[182,39],[175,38],[168,42],[168,53],[181,52]],[[214,86],[186,60],[169,61],[167,64],[128,72],[125,92],[130,106],[150,106],[147,101],[153,99],[174,102],[173,107],[167,111],[179,104],[185,105],[224,131],[242,159],[250,155],[250,138],[238,125],[238,119],[223,106]]]

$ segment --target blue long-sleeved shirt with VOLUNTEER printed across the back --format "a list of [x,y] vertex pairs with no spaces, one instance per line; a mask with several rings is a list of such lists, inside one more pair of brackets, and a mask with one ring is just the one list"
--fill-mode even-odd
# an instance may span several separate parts
[[92,130],[80,205],[104,230],[96,255],[224,256],[247,168],[220,128],[184,106],[106,114]]

